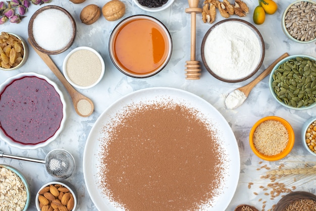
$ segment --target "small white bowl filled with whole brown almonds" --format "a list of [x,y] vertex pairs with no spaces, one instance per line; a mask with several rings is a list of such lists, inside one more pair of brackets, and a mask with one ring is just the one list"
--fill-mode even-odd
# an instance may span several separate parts
[[71,184],[63,182],[49,182],[43,185],[36,194],[35,205],[42,210],[75,210],[77,206],[77,192]]

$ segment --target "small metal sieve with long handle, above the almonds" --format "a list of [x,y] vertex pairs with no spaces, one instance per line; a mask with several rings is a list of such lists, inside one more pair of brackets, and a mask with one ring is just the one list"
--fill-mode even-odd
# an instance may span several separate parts
[[75,170],[74,157],[65,149],[54,149],[48,152],[45,160],[34,159],[31,157],[16,156],[13,154],[6,154],[0,151],[0,157],[9,157],[11,159],[31,161],[35,163],[45,164],[47,173],[59,179],[67,179]]

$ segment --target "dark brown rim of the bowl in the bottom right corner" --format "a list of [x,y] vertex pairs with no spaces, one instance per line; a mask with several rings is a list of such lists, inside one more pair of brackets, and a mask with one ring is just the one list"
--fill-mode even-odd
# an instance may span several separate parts
[[[287,195],[285,195],[283,198],[280,199],[280,201],[276,204],[274,210],[275,211],[283,211],[286,210],[286,208],[295,201],[301,200],[301,199],[309,199],[316,201],[316,195],[306,192],[306,191],[295,191],[291,192]],[[297,209],[293,209],[297,210]]]

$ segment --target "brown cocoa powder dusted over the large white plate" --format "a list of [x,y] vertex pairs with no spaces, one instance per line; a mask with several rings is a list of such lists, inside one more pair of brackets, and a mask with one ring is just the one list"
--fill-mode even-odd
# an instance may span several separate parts
[[104,126],[99,188],[125,210],[192,210],[223,191],[225,153],[194,108],[170,99],[127,106]]

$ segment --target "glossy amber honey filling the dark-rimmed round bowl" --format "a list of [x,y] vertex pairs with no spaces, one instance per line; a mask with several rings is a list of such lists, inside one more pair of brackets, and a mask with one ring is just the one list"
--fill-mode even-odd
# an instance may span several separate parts
[[119,27],[114,37],[113,59],[131,75],[150,75],[166,64],[170,56],[169,34],[161,25],[139,17]]

